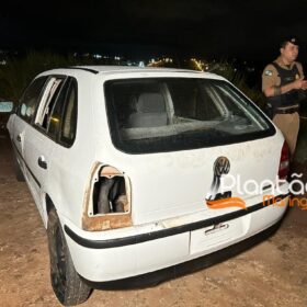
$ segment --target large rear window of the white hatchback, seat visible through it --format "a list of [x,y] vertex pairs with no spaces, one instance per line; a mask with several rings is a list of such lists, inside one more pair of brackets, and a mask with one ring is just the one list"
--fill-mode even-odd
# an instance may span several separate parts
[[270,122],[226,81],[146,78],[105,82],[111,137],[148,154],[212,147],[274,134]]

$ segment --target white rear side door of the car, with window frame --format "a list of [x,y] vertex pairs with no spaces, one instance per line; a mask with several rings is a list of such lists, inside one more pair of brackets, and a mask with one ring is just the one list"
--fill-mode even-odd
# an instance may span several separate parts
[[67,78],[50,76],[35,114],[33,125],[25,130],[24,160],[31,172],[30,189],[42,216],[44,216],[44,195],[49,183],[53,167],[53,151],[57,141],[60,122],[60,101],[65,94]]

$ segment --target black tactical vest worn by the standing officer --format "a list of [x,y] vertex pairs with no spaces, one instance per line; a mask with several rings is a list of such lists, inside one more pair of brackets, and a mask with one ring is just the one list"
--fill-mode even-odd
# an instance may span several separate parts
[[[299,76],[300,78],[296,64],[293,66],[292,69],[284,69],[274,61],[272,62],[272,65],[276,68],[278,72],[278,77],[281,78],[281,87],[295,81],[296,76]],[[297,105],[299,102],[298,93],[298,90],[291,90],[284,94],[270,96],[266,99],[268,104],[271,104],[273,109]]]

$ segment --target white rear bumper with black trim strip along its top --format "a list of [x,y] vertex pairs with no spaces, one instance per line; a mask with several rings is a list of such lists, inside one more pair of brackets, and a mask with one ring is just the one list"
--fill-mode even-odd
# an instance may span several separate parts
[[[287,195],[283,202],[288,202]],[[261,203],[205,220],[104,240],[84,238],[65,220],[62,224],[77,272],[87,281],[100,283],[214,254],[270,228],[282,218],[286,207]],[[121,229],[116,231],[120,234]]]

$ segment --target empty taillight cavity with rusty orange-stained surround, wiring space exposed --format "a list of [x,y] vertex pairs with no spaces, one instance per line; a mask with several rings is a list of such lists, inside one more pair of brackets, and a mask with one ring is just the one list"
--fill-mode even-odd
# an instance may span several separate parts
[[84,196],[82,228],[99,231],[130,225],[129,179],[114,167],[95,163]]

